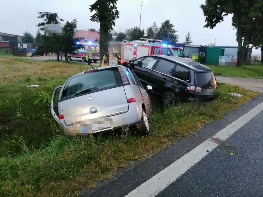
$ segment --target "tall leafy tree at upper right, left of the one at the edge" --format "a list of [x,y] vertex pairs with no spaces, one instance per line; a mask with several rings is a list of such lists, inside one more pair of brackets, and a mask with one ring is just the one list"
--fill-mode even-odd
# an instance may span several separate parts
[[238,42],[237,66],[242,65],[245,47],[248,44],[249,34],[252,31],[253,17],[250,11],[255,4],[254,0],[206,0],[200,5],[206,17],[204,27],[213,29],[224,17],[232,14],[232,26],[236,29]]

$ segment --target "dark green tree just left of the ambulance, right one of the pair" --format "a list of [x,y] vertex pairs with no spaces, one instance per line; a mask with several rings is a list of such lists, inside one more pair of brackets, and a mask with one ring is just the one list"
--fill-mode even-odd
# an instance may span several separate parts
[[76,18],[72,22],[67,21],[63,27],[65,35],[61,38],[63,45],[63,52],[65,55],[65,60],[68,61],[68,52],[74,53],[80,49],[85,48],[82,44],[77,44],[80,40],[84,38],[74,38],[75,32],[77,31],[77,20]]

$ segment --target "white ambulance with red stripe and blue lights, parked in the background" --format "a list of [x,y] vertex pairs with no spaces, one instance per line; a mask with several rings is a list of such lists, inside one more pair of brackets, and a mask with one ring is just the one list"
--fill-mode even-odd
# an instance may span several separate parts
[[79,51],[76,51],[75,55],[68,53],[68,59],[69,60],[79,60],[79,61],[86,62],[87,61],[86,50],[88,50],[90,47],[95,49],[98,52],[98,57],[94,58],[91,56],[91,60],[94,62],[97,62],[99,60],[99,43],[92,43],[92,42],[79,43],[79,42],[77,42],[77,44],[83,44],[85,49],[80,49]]

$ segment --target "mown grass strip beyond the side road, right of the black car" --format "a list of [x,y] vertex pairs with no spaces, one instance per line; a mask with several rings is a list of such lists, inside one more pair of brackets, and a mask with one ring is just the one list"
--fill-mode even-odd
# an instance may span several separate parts
[[245,78],[263,78],[263,65],[243,65],[243,66],[215,66],[207,65],[211,68],[215,75],[232,76],[232,77],[245,77]]

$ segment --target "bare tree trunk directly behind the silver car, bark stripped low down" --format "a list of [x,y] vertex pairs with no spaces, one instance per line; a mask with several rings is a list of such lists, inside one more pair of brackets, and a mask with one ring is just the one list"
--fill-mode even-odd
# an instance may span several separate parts
[[99,58],[99,65],[101,67],[103,56],[106,55],[109,50],[108,47],[108,34],[109,30],[106,27],[103,27],[102,24],[100,24],[100,31],[99,31],[99,51],[100,51],[100,58]]

